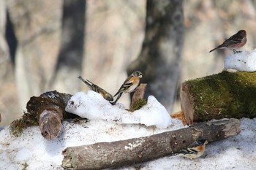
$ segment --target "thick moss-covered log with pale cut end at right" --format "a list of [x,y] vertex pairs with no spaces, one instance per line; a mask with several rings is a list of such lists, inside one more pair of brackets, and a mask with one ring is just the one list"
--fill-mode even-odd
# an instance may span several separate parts
[[256,117],[256,72],[221,72],[181,85],[188,124],[223,117]]

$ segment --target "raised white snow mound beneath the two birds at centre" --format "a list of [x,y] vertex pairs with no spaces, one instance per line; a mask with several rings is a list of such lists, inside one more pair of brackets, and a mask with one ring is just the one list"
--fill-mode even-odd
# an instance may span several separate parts
[[171,118],[167,110],[154,96],[148,96],[146,106],[135,112],[129,112],[124,105],[112,105],[99,93],[89,90],[88,93],[78,92],[70,98],[66,111],[89,120],[106,120],[125,124],[155,125],[167,128]]

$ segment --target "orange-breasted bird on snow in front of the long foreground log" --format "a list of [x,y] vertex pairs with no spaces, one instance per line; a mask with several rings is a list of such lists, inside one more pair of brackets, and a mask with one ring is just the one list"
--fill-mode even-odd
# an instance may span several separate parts
[[189,147],[182,149],[175,155],[181,154],[190,159],[199,158],[205,152],[206,144],[208,144],[206,139],[198,139],[197,142],[194,142],[193,144],[189,145]]

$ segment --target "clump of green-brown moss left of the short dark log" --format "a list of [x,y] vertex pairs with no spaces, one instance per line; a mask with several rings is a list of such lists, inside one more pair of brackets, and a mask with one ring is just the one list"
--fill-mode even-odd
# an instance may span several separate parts
[[20,119],[14,120],[11,123],[10,132],[12,135],[18,137],[23,132],[23,129],[33,125],[39,125],[37,117],[29,112],[24,112],[24,115]]

